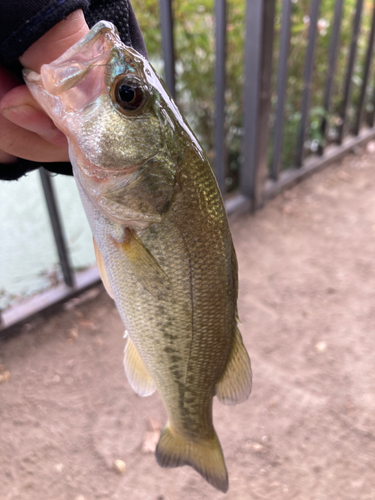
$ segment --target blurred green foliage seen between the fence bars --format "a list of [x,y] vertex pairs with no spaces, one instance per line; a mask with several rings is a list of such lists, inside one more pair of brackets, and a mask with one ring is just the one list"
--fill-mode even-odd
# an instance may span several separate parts
[[[356,0],[344,0],[340,46],[335,71],[331,112],[327,116],[326,140],[334,141],[340,124],[343,87],[346,78],[348,55],[353,29]],[[158,0],[132,0],[134,10],[146,40],[152,63],[162,70],[161,35],[159,26]],[[251,4],[251,3],[250,3]],[[279,32],[281,26],[281,0],[277,1],[275,19],[275,41],[273,54],[273,99],[271,113],[272,153],[273,120],[277,101],[277,61],[279,52]],[[310,120],[307,131],[306,155],[316,152],[323,144],[320,132],[323,109],[324,88],[328,72],[330,38],[333,26],[335,0],[321,0],[318,36],[315,51],[315,70],[312,81]],[[373,0],[365,0],[358,39],[357,57],[352,77],[352,99],[348,108],[349,127],[353,125],[363,79],[364,61],[371,27]],[[227,185],[231,189],[237,183],[241,158],[243,72],[245,37],[244,0],[227,0],[227,86],[226,86],[226,129],[228,146]],[[174,8],[174,34],[177,76],[177,100],[183,114],[202,142],[211,160],[214,159],[214,1],[176,0]],[[310,0],[293,0],[291,42],[288,63],[288,85],[285,103],[285,129],[282,154],[282,168],[294,165],[296,141],[301,111],[303,90],[303,70],[308,44]],[[371,73],[367,89],[366,111],[371,113],[374,105],[374,75]]]

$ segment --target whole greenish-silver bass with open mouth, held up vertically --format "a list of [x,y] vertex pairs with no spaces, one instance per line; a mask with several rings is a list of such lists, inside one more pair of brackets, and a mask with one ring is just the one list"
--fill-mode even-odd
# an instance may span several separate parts
[[98,269],[126,327],[129,383],[140,396],[157,389],[166,408],[156,460],[190,465],[226,492],[213,397],[242,403],[252,371],[207,157],[152,65],[109,22],[24,79],[68,138]]

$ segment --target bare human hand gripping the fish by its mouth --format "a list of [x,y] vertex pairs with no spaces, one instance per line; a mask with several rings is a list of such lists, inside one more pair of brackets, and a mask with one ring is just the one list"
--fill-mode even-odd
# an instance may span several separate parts
[[[77,10],[60,21],[21,57],[21,64],[40,71],[80,40],[89,30]],[[17,158],[37,162],[69,161],[65,135],[12,73],[0,68],[0,163]]]

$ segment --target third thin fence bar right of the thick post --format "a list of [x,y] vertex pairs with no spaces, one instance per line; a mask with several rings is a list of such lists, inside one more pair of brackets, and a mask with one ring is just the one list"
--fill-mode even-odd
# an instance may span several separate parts
[[336,0],[336,2],[335,2],[335,14],[334,14],[334,18],[333,18],[333,26],[332,26],[332,34],[331,34],[331,42],[330,42],[330,47],[329,47],[327,81],[326,81],[326,86],[325,86],[325,90],[324,90],[324,100],[323,100],[323,108],[325,111],[325,116],[323,116],[322,123],[320,126],[320,132],[322,135],[322,143],[319,145],[319,150],[318,150],[318,153],[320,155],[323,155],[323,153],[324,153],[325,136],[326,136],[326,130],[327,130],[327,120],[328,120],[328,114],[329,114],[330,109],[331,109],[331,97],[332,97],[332,91],[333,91],[337,55],[339,52],[342,8],[343,8],[343,0]]

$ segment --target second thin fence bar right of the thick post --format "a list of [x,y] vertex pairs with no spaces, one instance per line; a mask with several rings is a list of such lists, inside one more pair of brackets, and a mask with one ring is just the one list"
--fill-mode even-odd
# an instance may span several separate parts
[[318,30],[317,25],[318,25],[319,8],[320,8],[320,0],[312,0],[311,11],[310,11],[308,45],[306,51],[305,68],[303,72],[301,122],[298,131],[297,148],[296,148],[297,167],[302,167],[304,158],[305,138],[309,122],[310,99],[312,90],[312,77],[314,71],[314,55],[315,55],[316,35]]

